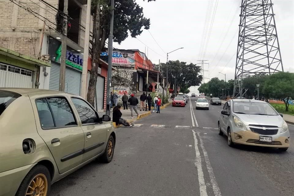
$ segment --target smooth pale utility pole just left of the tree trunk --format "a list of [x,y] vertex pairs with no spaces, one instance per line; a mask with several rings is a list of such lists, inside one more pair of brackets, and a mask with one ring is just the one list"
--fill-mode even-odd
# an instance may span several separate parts
[[[87,17],[86,17],[84,59],[83,59],[82,86],[81,86],[81,97],[83,97],[84,99],[86,99],[86,92],[87,92],[86,88],[87,88],[87,72],[88,72],[88,58],[89,58],[90,16],[91,16],[91,0],[87,0]],[[95,92],[95,95],[96,95],[96,92]],[[97,104],[96,104],[96,107],[97,107]]]

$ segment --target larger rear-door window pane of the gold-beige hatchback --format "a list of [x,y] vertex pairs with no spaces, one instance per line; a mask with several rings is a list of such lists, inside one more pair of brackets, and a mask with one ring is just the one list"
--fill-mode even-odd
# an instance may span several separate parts
[[51,107],[55,126],[77,125],[74,119],[73,111],[64,97],[48,97],[48,103]]

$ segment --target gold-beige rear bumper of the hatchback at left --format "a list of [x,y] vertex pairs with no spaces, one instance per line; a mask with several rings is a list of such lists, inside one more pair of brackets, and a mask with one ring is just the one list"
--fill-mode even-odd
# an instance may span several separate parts
[[15,195],[22,180],[35,165],[36,163],[1,172],[0,196]]

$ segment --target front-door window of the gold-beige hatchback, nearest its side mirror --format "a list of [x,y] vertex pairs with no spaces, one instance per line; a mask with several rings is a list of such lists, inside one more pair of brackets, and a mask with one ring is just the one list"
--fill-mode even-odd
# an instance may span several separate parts
[[99,118],[96,115],[96,112],[87,102],[78,98],[71,98],[71,100],[77,109],[82,124],[99,123]]

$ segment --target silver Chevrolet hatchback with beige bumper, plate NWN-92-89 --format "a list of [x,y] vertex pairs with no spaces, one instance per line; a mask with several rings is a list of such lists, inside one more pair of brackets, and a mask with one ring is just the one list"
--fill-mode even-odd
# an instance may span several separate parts
[[282,115],[268,103],[259,100],[228,100],[218,120],[220,135],[234,144],[276,147],[287,150],[290,134]]

